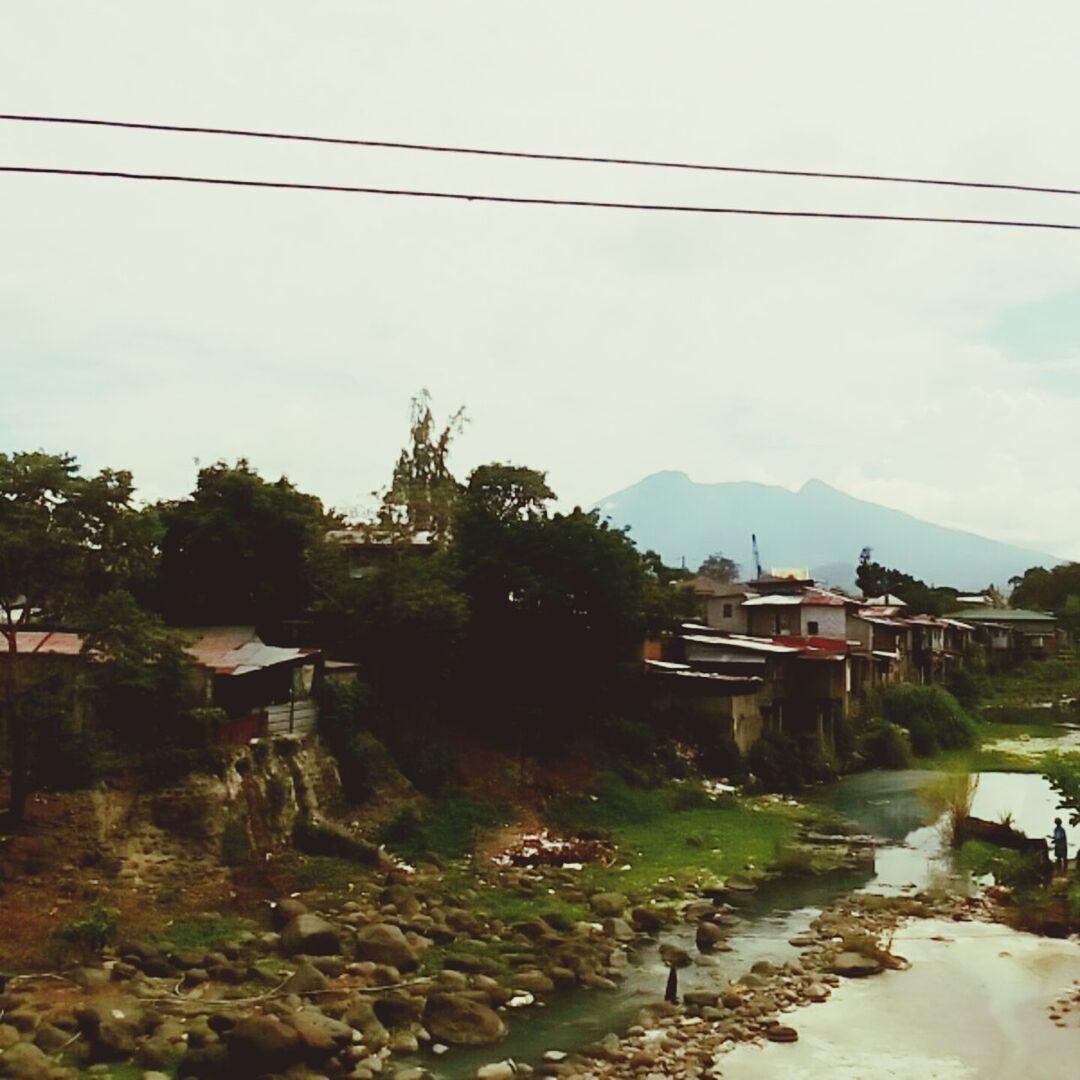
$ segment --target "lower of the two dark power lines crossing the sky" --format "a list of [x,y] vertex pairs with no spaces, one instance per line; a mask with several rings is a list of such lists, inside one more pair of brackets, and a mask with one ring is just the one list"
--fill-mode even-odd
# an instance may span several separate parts
[[37,165],[0,165],[0,173],[42,176],[93,176],[121,180],[160,180],[170,184],[210,184],[234,188],[274,188],[286,191],[333,191],[349,194],[402,195],[413,199],[445,199],[457,202],[507,203],[524,206],[579,206],[593,210],[661,211],[676,214],[725,214],[745,217],[833,218],[847,221],[912,221],[928,225],[983,225],[1010,229],[1058,229],[1080,231],[1080,225],[1021,221],[981,217],[929,217],[912,214],[854,214],[837,211],[758,210],[739,206],[693,206],[673,203],[604,202],[595,199],[542,199],[524,195],[489,195],[462,191],[418,191],[404,188],[353,187],[343,184],[300,184],[286,180],[242,180],[214,176],[177,176],[163,173],[130,173],[98,168],[46,168]]

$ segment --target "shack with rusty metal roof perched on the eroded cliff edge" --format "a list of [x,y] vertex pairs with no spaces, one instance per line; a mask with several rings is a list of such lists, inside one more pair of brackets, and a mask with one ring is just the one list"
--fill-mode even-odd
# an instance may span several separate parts
[[221,738],[243,742],[258,735],[307,734],[315,729],[315,693],[323,656],[318,649],[267,645],[253,626],[186,631],[198,665],[198,692],[224,710]]

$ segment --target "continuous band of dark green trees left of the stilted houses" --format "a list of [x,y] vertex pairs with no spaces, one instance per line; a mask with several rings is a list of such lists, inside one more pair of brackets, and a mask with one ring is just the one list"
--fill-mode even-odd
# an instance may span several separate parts
[[643,638],[690,613],[671,586],[677,572],[595,511],[553,511],[539,470],[492,462],[456,477],[463,419],[440,427],[427,394],[413,402],[390,483],[354,526],[380,555],[359,577],[327,538],[345,517],[245,460],[200,469],[181,499],[139,505],[130,472],[86,476],[71,455],[0,454],[13,816],[35,783],[41,712],[19,684],[28,629],[78,630],[87,653],[111,660],[86,664],[87,685],[109,723],[144,739],[198,714],[178,704],[176,631],[200,625],[252,624],[354,660],[363,721],[400,735],[459,729],[532,753],[633,710]]

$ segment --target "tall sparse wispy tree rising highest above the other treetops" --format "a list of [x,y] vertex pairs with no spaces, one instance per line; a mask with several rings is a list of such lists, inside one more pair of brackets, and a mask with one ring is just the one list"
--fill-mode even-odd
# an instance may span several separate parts
[[421,390],[413,399],[409,445],[397,458],[377,514],[382,532],[394,539],[423,532],[436,543],[449,538],[461,485],[450,472],[448,459],[450,444],[464,423],[464,409],[459,408],[436,434],[431,394]]

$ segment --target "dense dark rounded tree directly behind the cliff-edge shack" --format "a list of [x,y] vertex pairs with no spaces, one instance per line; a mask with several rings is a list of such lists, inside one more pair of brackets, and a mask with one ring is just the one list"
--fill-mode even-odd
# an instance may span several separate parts
[[194,491],[159,513],[159,604],[179,625],[300,615],[314,594],[314,554],[337,524],[315,496],[284,476],[264,480],[244,459],[201,469]]

